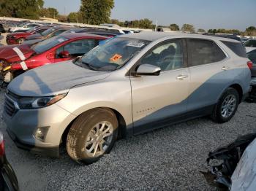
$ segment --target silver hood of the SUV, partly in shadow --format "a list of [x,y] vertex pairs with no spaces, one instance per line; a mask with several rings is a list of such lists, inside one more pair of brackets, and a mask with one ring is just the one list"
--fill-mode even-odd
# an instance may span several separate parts
[[48,96],[66,93],[71,87],[105,79],[107,71],[91,71],[72,61],[32,69],[16,77],[7,89],[20,96]]

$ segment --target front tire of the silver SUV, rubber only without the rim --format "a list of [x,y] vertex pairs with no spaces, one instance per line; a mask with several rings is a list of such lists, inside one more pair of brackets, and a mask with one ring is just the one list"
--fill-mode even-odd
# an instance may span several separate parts
[[116,114],[110,109],[92,109],[89,112],[81,114],[75,122],[73,122],[69,133],[67,134],[67,153],[72,160],[75,160],[80,164],[83,163],[89,165],[97,162],[97,160],[102,157],[102,155],[91,157],[86,152],[87,136],[89,136],[89,133],[91,133],[91,130],[94,129],[95,125],[102,121],[108,121],[113,126],[113,136],[111,136],[111,141],[102,155],[110,152],[118,136],[118,121],[116,119]]

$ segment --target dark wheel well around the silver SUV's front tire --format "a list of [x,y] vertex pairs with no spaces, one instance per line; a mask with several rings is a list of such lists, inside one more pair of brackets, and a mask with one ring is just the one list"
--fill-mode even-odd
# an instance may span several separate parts
[[[124,117],[118,111],[116,111],[116,109],[112,109],[112,108],[108,108],[108,107],[102,107],[102,108],[110,109],[112,112],[114,112],[114,114],[116,114],[116,119],[118,120],[118,139],[124,138],[126,136],[126,126],[127,126],[126,122],[124,120]],[[97,109],[97,108],[94,108],[94,109]],[[88,110],[86,112],[89,112],[90,110]],[[83,113],[85,113],[85,112],[83,112]],[[78,117],[80,115],[78,115]],[[71,128],[73,122],[75,122],[75,120],[78,117],[75,117],[75,119],[72,120],[72,122],[70,122],[69,125],[67,125],[67,128],[64,130],[64,133],[61,136],[61,143],[62,144],[66,144],[66,142],[67,142],[67,134],[69,133],[69,129]]]

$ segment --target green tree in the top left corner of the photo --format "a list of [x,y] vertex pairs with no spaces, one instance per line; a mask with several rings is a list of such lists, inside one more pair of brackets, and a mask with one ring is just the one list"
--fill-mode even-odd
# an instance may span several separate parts
[[37,19],[43,4],[43,0],[1,0],[0,15]]

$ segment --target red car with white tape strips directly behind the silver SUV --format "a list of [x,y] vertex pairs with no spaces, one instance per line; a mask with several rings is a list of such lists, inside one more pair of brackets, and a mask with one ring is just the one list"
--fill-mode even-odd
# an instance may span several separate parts
[[61,34],[29,45],[0,47],[0,77],[8,83],[26,70],[50,63],[71,60],[96,47],[106,36],[95,34]]

